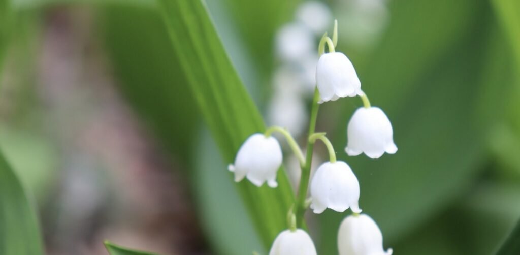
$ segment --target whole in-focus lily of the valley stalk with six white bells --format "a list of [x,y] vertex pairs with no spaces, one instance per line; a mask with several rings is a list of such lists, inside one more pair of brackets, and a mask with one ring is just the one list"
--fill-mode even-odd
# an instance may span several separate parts
[[[289,211],[289,229],[276,237],[270,255],[317,254],[310,236],[303,229],[297,228],[307,207],[314,213],[322,213],[327,208],[337,212],[344,212],[349,208],[352,210],[353,214],[347,216],[339,228],[337,241],[340,255],[392,254],[392,249],[383,250],[383,237],[378,225],[370,216],[361,214],[356,175],[346,162],[336,160],[334,148],[326,134],[316,133],[314,130],[319,104],[342,97],[359,96],[363,107],[355,111],[348,123],[346,154],[358,156],[364,153],[369,158],[377,159],[385,152],[394,154],[397,151],[392,124],[380,108],[370,105],[367,95],[361,90],[361,82],[352,62],[343,53],[335,52],[336,43],[337,22],[332,39],[326,33],[318,46],[320,57],[316,67],[316,89],[307,150],[311,152],[319,139],[327,146],[329,161],[319,166],[310,181],[310,198],[307,198],[307,183],[312,153],[307,153],[305,158],[291,133],[283,128],[274,126],[265,133],[251,135],[238,150],[235,164],[229,165],[229,170],[235,173],[236,182],[246,177],[256,186],[267,183],[271,188],[277,187],[276,175],[282,164],[282,151],[278,140],[271,135],[273,132],[279,132],[287,138],[289,146],[300,161],[300,188]],[[326,46],[328,53],[325,53]]]

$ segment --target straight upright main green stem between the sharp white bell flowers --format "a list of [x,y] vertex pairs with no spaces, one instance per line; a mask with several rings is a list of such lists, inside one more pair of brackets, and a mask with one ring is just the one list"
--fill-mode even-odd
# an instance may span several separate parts
[[[310,122],[309,122],[309,136],[314,134],[316,129],[316,119],[318,118],[318,109],[320,100],[320,93],[318,88],[314,90],[313,106],[310,110]],[[300,177],[300,188],[298,188],[298,196],[296,198],[296,225],[301,226],[303,222],[303,214],[307,209],[305,207],[305,200],[307,197],[307,189],[310,178],[310,165],[313,163],[313,149],[314,143],[307,140],[307,153],[305,158],[305,164],[302,166],[302,176]]]

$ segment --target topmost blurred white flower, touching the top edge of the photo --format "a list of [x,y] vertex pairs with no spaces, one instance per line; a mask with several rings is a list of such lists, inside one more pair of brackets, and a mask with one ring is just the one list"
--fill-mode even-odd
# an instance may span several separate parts
[[329,27],[332,15],[326,4],[318,1],[307,1],[296,10],[296,19],[315,34],[321,35]]

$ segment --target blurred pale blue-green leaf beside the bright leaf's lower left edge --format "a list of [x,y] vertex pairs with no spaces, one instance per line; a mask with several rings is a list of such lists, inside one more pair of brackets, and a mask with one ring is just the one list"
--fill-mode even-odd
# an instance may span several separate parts
[[202,225],[214,252],[242,255],[258,251],[266,254],[267,249],[260,243],[236,188],[229,185],[227,175],[218,171],[225,168],[226,163],[220,157],[215,142],[207,130],[201,132],[199,137],[196,151],[204,155],[204,160],[194,162],[193,194],[197,197]]

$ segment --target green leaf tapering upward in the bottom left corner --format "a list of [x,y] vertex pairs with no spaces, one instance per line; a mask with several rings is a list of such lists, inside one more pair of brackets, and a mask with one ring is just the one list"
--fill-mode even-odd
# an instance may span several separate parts
[[18,177],[0,154],[0,254],[43,254],[40,227]]

